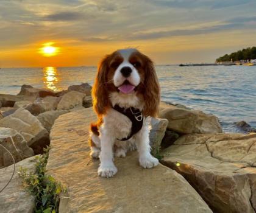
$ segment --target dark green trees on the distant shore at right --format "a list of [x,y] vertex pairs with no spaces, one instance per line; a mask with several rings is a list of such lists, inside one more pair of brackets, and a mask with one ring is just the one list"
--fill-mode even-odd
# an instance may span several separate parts
[[226,54],[216,59],[217,62],[222,61],[240,61],[240,60],[251,60],[256,59],[256,47],[248,47],[232,54]]

